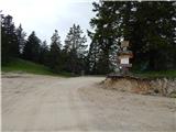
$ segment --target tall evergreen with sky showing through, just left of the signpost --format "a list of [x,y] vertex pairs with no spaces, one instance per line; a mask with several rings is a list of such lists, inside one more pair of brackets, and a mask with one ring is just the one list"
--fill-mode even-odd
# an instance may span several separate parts
[[[118,3],[118,2],[117,2]],[[94,69],[99,74],[108,74],[113,70],[111,54],[118,48],[117,37],[119,36],[119,25],[117,21],[120,20],[117,16],[116,2],[103,2],[99,4],[94,3],[94,11],[97,12],[96,18],[91,19],[90,25],[95,29],[95,33],[91,36],[92,43],[90,45],[92,50],[99,48],[99,52],[94,52],[96,58],[96,67]],[[94,47],[95,46],[95,47]],[[90,52],[89,52],[90,53]],[[91,55],[89,55],[91,57]]]

